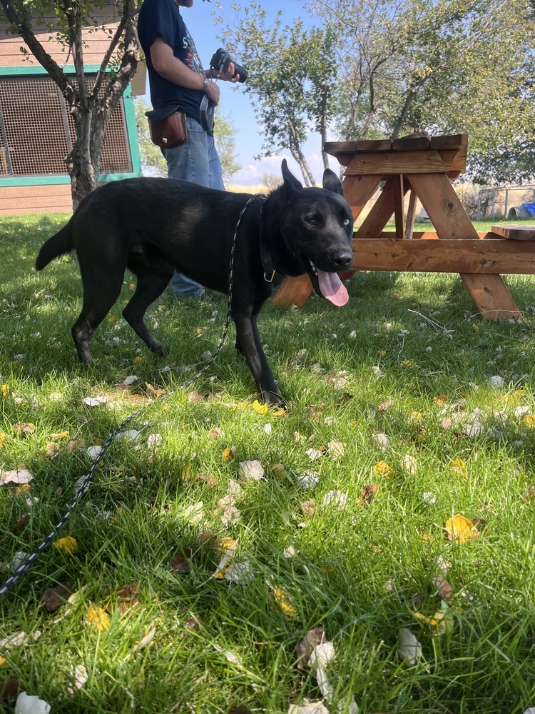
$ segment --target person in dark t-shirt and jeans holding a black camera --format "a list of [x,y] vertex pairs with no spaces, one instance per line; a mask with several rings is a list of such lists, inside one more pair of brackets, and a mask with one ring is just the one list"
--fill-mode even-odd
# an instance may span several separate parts
[[[216,69],[203,69],[180,14],[181,7],[192,6],[193,0],[144,0],[138,36],[146,56],[153,109],[180,104],[186,114],[188,141],[175,149],[162,149],[169,178],[224,191],[213,139],[213,108],[219,104],[220,88],[212,80],[235,83],[240,76],[234,76],[233,62],[219,76]],[[178,271],[171,286],[178,298],[205,294],[203,286]]]

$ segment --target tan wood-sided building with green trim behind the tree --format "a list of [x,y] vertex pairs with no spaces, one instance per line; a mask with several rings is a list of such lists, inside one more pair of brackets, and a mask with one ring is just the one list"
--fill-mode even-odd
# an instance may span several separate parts
[[[74,71],[61,44],[44,27],[34,29],[39,41],[66,71]],[[88,82],[96,75],[108,40],[86,33],[84,61]],[[72,147],[73,121],[50,76],[24,41],[0,23],[0,216],[14,213],[71,211],[71,179],[65,158]],[[144,94],[143,66],[136,94]],[[108,124],[100,181],[141,176],[138,136],[131,86]]]

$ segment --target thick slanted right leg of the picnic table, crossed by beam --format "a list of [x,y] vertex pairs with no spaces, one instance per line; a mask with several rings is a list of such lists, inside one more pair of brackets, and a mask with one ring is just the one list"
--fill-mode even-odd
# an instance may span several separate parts
[[[446,174],[408,174],[439,238],[479,238]],[[486,320],[522,315],[497,273],[459,273],[478,311]]]

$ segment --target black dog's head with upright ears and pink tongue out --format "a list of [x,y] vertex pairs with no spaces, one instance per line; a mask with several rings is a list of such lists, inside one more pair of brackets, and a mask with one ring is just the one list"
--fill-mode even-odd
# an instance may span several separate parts
[[318,295],[342,306],[349,296],[337,273],[353,262],[353,216],[342,183],[325,169],[323,188],[303,188],[282,161],[280,231],[287,250],[298,258]]

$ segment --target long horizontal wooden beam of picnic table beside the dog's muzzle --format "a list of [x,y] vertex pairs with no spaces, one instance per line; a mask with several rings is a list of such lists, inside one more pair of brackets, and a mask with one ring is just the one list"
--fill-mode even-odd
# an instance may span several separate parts
[[[383,235],[387,235],[383,233]],[[392,236],[393,233],[390,233]],[[535,256],[529,243],[500,238],[427,239],[354,238],[351,271],[407,271],[415,273],[477,273],[535,275]]]

